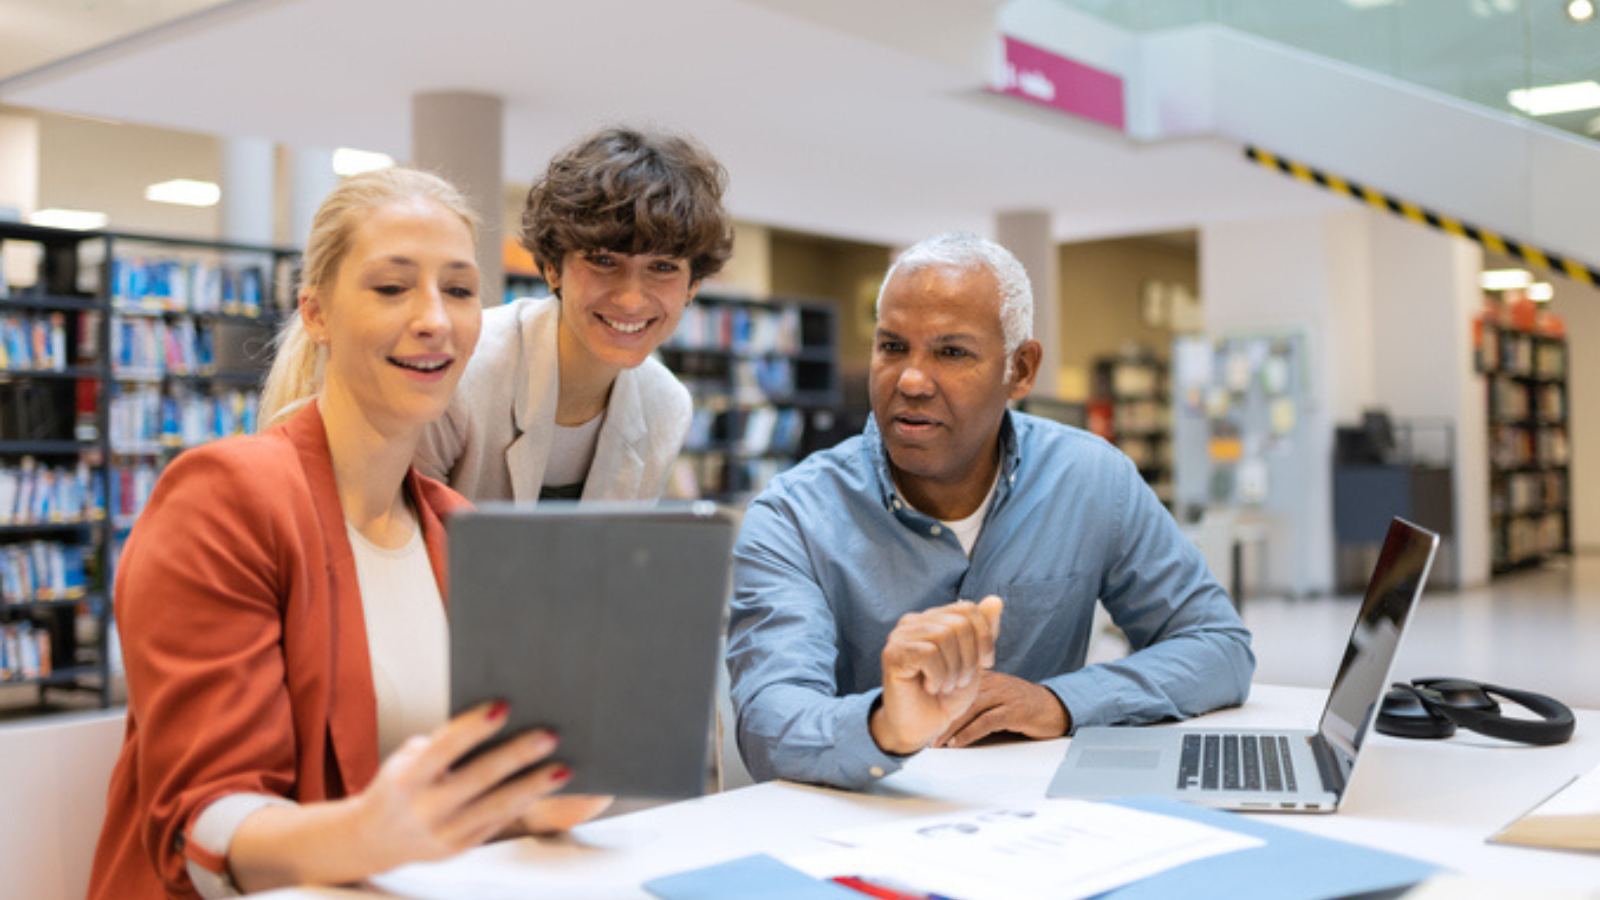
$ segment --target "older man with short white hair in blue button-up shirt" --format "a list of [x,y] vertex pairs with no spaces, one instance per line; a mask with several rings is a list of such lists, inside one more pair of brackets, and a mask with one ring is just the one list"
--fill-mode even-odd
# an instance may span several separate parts
[[[1133,463],[1008,410],[1038,375],[1032,319],[989,240],[890,267],[872,421],[773,479],[734,548],[728,673],[757,778],[861,788],[930,745],[1245,700],[1250,633]],[[1096,601],[1133,653],[1085,666]]]

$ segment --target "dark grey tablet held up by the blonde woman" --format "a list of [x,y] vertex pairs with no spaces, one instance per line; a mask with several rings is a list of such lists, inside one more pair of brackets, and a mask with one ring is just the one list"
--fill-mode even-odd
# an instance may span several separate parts
[[485,503],[450,519],[450,706],[554,729],[570,793],[706,788],[733,517],[712,503]]

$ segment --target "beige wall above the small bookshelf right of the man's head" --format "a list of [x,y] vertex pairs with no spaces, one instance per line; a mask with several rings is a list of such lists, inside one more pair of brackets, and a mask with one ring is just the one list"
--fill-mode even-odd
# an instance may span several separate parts
[[1093,240],[1061,247],[1061,386],[1064,399],[1088,396],[1096,357],[1134,341],[1166,359],[1171,330],[1142,319],[1141,288],[1149,279],[1200,290],[1194,247],[1149,239]]

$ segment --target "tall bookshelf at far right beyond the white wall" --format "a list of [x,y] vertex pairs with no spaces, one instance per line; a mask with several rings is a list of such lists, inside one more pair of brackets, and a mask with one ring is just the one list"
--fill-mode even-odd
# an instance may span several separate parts
[[1566,338],[1514,299],[1478,320],[1490,429],[1491,569],[1571,552]]

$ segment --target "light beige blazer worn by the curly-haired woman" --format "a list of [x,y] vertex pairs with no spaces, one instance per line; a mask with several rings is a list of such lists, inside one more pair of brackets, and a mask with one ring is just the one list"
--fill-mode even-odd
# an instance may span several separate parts
[[[523,298],[483,312],[483,333],[416,468],[469,500],[539,500],[555,434],[560,303]],[[611,386],[584,500],[654,500],[683,447],[690,392],[656,359]]]

